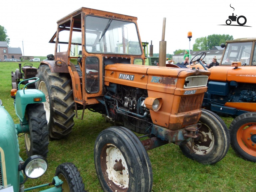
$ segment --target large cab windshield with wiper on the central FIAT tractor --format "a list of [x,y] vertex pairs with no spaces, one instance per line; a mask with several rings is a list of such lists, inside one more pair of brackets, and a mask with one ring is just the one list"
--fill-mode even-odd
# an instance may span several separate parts
[[85,18],[85,48],[94,53],[142,54],[134,23],[95,16]]

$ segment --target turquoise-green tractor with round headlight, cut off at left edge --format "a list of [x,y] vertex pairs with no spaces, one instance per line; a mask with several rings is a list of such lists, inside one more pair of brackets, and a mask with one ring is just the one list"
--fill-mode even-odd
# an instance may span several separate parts
[[[23,81],[32,79],[35,78]],[[0,100],[0,190],[24,192],[52,185],[51,188],[43,191],[84,192],[80,173],[72,163],[60,164],[51,182],[25,189],[24,183],[28,178],[38,178],[47,170],[48,163],[45,157],[49,142],[46,114],[42,103],[45,101],[45,95],[37,89],[26,89],[28,84],[20,89],[22,83],[22,81],[19,83],[18,91],[12,90],[15,111],[20,119],[19,124],[14,124]],[[29,157],[25,161],[19,156],[19,133],[26,133],[25,141]],[[33,135],[35,140],[30,140],[30,135]]]

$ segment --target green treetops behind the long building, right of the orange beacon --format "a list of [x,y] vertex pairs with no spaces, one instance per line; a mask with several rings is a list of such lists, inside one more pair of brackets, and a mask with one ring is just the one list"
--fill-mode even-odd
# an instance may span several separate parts
[[220,46],[220,44],[225,43],[227,40],[234,40],[231,35],[208,35],[207,37],[200,37],[195,40],[193,44],[193,50],[210,50],[214,46]]

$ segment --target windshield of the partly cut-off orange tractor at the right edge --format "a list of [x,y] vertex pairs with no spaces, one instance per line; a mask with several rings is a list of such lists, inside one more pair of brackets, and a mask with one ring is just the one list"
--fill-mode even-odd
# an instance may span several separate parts
[[229,43],[222,59],[221,65],[231,65],[232,62],[240,61],[241,64],[249,65],[252,50],[252,42]]

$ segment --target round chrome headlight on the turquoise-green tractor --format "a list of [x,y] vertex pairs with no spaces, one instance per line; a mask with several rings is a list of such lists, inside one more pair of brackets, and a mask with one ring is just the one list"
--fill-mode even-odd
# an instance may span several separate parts
[[41,155],[30,156],[23,165],[24,173],[29,178],[38,178],[42,176],[47,169],[47,161]]

